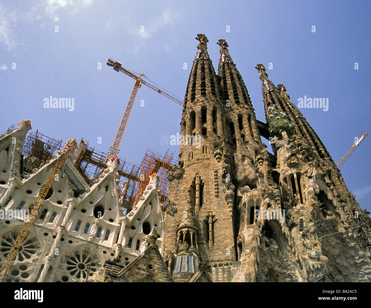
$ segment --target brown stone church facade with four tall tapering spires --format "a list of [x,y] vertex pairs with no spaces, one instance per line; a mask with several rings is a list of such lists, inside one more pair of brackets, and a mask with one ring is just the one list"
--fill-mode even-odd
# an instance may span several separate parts
[[214,282],[370,280],[370,218],[285,87],[257,65],[267,123],[257,121],[227,42],[216,75],[206,36],[196,39],[168,172],[162,255],[174,281],[200,270]]

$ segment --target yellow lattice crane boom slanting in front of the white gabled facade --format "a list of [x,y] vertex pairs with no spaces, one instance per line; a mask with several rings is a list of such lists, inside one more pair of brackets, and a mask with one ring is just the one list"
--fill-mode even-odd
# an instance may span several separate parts
[[39,197],[37,197],[35,205],[33,206],[32,210],[30,212],[28,221],[24,222],[24,224],[22,226],[22,229],[20,230],[16,240],[13,243],[13,246],[10,248],[10,251],[9,251],[8,255],[6,256],[6,258],[4,260],[3,265],[1,265],[1,268],[0,268],[0,282],[3,281],[3,278],[6,275],[6,272],[8,271],[10,266],[12,265],[12,262],[13,262],[14,258],[16,257],[16,255],[19,251],[19,248],[21,247],[24,239],[26,238],[27,233],[30,230],[31,225],[32,225],[33,221],[35,220],[35,218],[37,216],[37,213],[38,213],[40,207],[42,206],[42,204],[44,202],[46,194],[48,193],[50,187],[52,187],[52,184],[54,182],[56,174],[58,174],[58,172],[60,171],[60,168],[62,167],[63,163],[65,162],[65,160],[68,156],[68,153],[69,153],[69,150],[71,149],[72,144],[74,144],[75,146],[77,145],[75,139],[70,139],[66,143],[66,146],[63,148],[62,153],[60,154],[60,156],[58,158],[58,161],[54,165],[52,173],[50,174],[50,176],[47,179],[46,183],[44,184],[43,188],[41,189]]

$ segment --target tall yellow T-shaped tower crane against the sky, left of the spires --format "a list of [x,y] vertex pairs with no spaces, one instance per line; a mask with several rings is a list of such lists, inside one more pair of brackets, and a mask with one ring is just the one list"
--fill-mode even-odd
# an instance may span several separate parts
[[122,116],[121,123],[118,127],[118,130],[117,130],[117,133],[116,133],[116,136],[115,136],[115,140],[112,143],[111,148],[109,149],[109,153],[108,153],[108,156],[106,158],[105,163],[107,163],[109,159],[112,159],[115,156],[117,156],[118,149],[120,147],[120,143],[121,143],[121,140],[122,140],[122,136],[124,135],[125,127],[126,127],[126,124],[128,123],[128,119],[129,119],[129,116],[130,116],[130,113],[131,113],[131,109],[132,109],[134,101],[135,101],[135,97],[137,97],[138,90],[139,90],[139,88],[141,87],[142,84],[147,85],[147,87],[151,88],[152,90],[155,90],[157,93],[160,93],[160,94],[164,95],[165,97],[169,98],[170,100],[175,101],[175,103],[179,104],[180,106],[183,106],[183,101],[180,101],[177,98],[171,96],[170,94],[160,90],[159,88],[157,88],[156,86],[154,86],[150,82],[143,80],[142,77],[145,77],[144,74],[140,74],[139,76],[137,76],[134,73],[132,73],[131,71],[129,71],[128,69],[123,68],[122,64],[120,62],[114,61],[112,59],[108,59],[107,65],[111,66],[116,72],[123,72],[124,74],[128,75],[129,77],[135,79],[135,84],[134,84],[133,90],[131,91],[131,95],[130,95],[128,104],[125,108],[124,116]]

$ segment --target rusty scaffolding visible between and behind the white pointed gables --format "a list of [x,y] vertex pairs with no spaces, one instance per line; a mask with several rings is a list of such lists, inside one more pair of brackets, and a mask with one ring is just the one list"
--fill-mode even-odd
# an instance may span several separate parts
[[[9,127],[8,131],[15,127],[16,125],[13,124]],[[22,176],[31,174],[33,169],[39,169],[45,165],[57,151],[62,150],[63,145],[63,140],[48,137],[38,130],[36,132],[29,132],[22,150]],[[141,165],[127,162],[126,159],[121,157],[119,158],[120,203],[124,214],[131,211],[135,204],[138,203],[139,198],[143,195],[150,181],[150,175],[154,173],[159,178],[158,188],[161,196],[160,201],[163,205],[162,210],[166,210],[166,198],[170,185],[167,179],[167,171],[173,165],[177,164],[173,156],[174,153],[169,149],[164,156],[154,150],[147,149]],[[92,186],[95,180],[102,174],[107,157],[107,153],[100,152],[95,147],[90,147],[86,140],[81,139],[75,150],[74,165],[89,186]]]

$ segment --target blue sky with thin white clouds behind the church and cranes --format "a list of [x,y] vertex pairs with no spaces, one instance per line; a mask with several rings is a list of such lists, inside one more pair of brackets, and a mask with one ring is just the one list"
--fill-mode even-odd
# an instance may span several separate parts
[[[144,73],[183,100],[197,51],[194,38],[204,33],[216,69],[216,42],[228,42],[257,119],[265,121],[258,63],[273,64],[270,80],[283,83],[295,104],[304,95],[329,98],[328,111],[301,111],[337,162],[355,137],[371,133],[370,12],[369,1],[1,1],[0,132],[29,119],[33,130],[47,136],[83,137],[107,152],[134,85],[107,59]],[[74,98],[75,110],[43,108],[50,95]],[[140,163],[148,147],[160,153],[170,147],[177,156],[170,136],[180,131],[181,112],[141,87],[119,156]],[[341,167],[349,190],[368,210],[370,150],[371,137]]]

